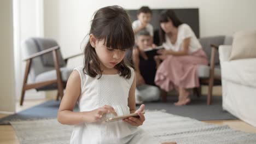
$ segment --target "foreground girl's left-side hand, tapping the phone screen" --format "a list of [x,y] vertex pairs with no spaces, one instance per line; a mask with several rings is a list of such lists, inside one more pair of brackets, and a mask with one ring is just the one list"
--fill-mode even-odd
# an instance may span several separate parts
[[112,106],[104,105],[98,109],[90,111],[88,113],[88,116],[84,116],[85,122],[89,122],[89,123],[97,122],[106,113],[112,113],[114,116],[117,116],[117,113],[115,112]]

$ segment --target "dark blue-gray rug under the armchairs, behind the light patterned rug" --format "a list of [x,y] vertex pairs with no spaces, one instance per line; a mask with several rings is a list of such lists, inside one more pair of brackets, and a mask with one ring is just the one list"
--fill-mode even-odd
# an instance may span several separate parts
[[[152,102],[144,104],[146,105],[147,110],[166,110],[166,112],[174,115],[195,118],[200,121],[237,119],[230,113],[223,111],[222,97],[213,97],[212,105],[206,105],[206,97],[192,97],[191,103],[185,106],[173,105],[173,103],[177,101],[177,97],[169,96],[167,98],[167,103],[157,101],[154,103]],[[45,103],[31,107],[30,109],[1,118],[0,124],[9,124],[10,121],[56,118],[59,106],[60,101],[46,101]]]

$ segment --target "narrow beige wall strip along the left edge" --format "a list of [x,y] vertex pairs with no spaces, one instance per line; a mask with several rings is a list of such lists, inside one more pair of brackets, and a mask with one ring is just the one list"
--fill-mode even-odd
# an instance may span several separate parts
[[12,1],[0,1],[0,111],[2,112],[15,111],[12,14]]

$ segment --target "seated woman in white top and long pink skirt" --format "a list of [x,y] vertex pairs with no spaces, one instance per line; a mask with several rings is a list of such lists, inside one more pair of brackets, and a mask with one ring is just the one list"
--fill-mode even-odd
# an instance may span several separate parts
[[179,21],[172,10],[160,15],[160,41],[165,49],[155,56],[155,83],[167,92],[175,88],[179,100],[174,104],[186,105],[190,102],[188,89],[199,87],[197,67],[208,64],[207,56],[193,30]]

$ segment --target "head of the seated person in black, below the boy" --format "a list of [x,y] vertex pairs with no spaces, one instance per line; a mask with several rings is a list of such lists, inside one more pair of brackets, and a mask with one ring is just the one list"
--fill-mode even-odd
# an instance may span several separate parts
[[136,44],[141,50],[147,49],[152,46],[150,33],[146,29],[139,31],[138,37],[136,37]]

